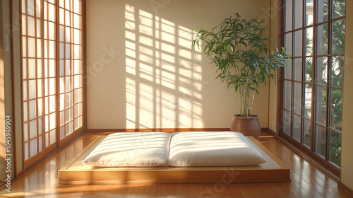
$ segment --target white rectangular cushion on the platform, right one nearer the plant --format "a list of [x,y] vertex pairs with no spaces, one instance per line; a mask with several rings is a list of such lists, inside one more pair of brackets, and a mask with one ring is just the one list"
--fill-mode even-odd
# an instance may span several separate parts
[[265,158],[239,132],[179,132],[172,135],[169,165],[242,166]]

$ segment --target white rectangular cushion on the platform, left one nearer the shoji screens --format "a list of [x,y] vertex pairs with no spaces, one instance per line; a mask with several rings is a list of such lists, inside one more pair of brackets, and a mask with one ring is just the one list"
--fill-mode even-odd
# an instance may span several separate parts
[[83,164],[99,167],[146,167],[168,163],[171,134],[124,132],[107,136]]

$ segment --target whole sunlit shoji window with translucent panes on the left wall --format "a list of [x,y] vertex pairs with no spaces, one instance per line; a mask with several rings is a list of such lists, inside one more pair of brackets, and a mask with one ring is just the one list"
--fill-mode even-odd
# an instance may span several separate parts
[[25,168],[82,127],[81,21],[80,0],[21,1]]

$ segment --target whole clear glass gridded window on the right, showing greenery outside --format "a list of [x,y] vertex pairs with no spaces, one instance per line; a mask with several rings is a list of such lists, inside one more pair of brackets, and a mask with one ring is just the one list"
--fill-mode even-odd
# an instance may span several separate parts
[[282,132],[340,169],[345,0],[284,0]]

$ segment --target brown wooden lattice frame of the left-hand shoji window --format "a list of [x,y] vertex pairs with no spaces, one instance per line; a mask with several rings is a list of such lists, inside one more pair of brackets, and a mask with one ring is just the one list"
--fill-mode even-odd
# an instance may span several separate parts
[[[28,107],[25,109],[25,107],[21,107],[21,110],[22,110],[22,127],[23,127],[23,132],[22,132],[22,135],[23,135],[23,168],[29,168],[31,165],[37,163],[37,161],[39,161],[40,159],[44,158],[44,156],[46,156],[48,153],[54,151],[54,149],[56,148],[59,148],[61,146],[64,146],[65,144],[68,143],[68,141],[71,141],[73,140],[73,137],[74,136],[77,136],[78,134],[82,133],[85,129],[86,129],[86,116],[85,116],[85,63],[86,63],[86,56],[85,56],[85,50],[84,50],[84,47],[85,47],[85,1],[84,0],[37,0],[40,4],[40,10],[39,11],[36,11],[36,8],[37,8],[37,1],[36,0],[32,0],[34,3],[34,7],[33,7],[33,13],[34,15],[32,16],[34,19],[34,28],[35,30],[33,30],[35,32],[35,55],[33,57],[33,59],[35,59],[35,78],[34,80],[36,81],[35,83],[35,101],[36,101],[36,105],[35,105],[35,112],[37,112],[35,115],[36,115],[36,120],[40,119],[42,120],[42,124],[41,125],[38,125],[37,123],[37,127],[36,127],[36,137],[35,138],[41,138],[42,139],[42,145],[40,145],[40,143],[37,141],[37,151],[36,153],[31,156],[30,154],[30,145],[29,145],[29,142],[30,142],[30,131],[28,130],[28,141],[25,141],[25,122],[27,122],[28,124],[28,129],[29,129],[29,124],[30,124],[30,117],[29,117],[29,114],[30,114],[30,108],[29,108],[29,103],[28,103]],[[81,62],[81,69],[80,69],[80,89],[81,89],[81,97],[80,97],[80,104],[81,104],[81,112],[80,112],[80,117],[81,117],[81,122],[80,122],[80,126],[77,127],[75,130],[73,130],[73,132],[67,134],[66,136],[64,136],[64,138],[60,139],[60,81],[59,81],[59,78],[60,78],[60,68],[59,68],[59,42],[60,42],[60,33],[59,33],[59,21],[60,21],[60,18],[59,18],[59,7],[60,7],[60,3],[64,1],[64,4],[66,1],[70,2],[69,4],[71,4],[71,8],[73,10],[73,4],[74,2],[76,1],[79,1],[79,5],[80,5],[80,31],[81,31],[81,35],[80,35],[80,45],[81,45],[81,48],[80,48],[80,54],[81,54],[81,57],[80,57],[80,62]],[[25,4],[23,4],[25,3]],[[47,18],[44,17],[44,4],[47,4],[47,6],[50,5],[54,5],[54,11],[55,13],[52,15],[52,17],[54,17],[54,36],[52,38],[49,39],[49,25],[47,25],[47,38],[44,37],[44,23],[47,23],[49,24],[49,10],[47,9]],[[23,11],[23,8],[25,8],[25,11]],[[32,10],[32,8],[31,8]],[[40,16],[37,16],[37,13],[40,12]],[[29,69],[28,69],[28,59],[30,59],[30,57],[28,57],[28,52],[30,52],[30,50],[28,50],[28,0],[22,0],[20,1],[20,43],[21,43],[21,93],[27,93],[27,95],[29,95],[29,91],[30,89],[28,88],[28,84],[27,83],[27,86],[26,87],[23,87],[23,81],[29,81]],[[24,18],[23,18],[24,16]],[[25,20],[25,21],[23,21]],[[40,29],[37,29],[37,23],[40,21]],[[23,25],[23,23],[25,23]],[[68,26],[73,26],[73,20],[71,20],[71,22],[68,24]],[[24,30],[25,28],[25,30]],[[25,31],[25,34],[23,32],[23,30]],[[38,31],[37,33],[37,30],[40,30]],[[37,37],[37,35],[40,35],[39,37]],[[72,37],[72,36],[71,36]],[[24,40],[25,39],[25,43],[24,43]],[[37,53],[37,40],[40,40],[40,46],[41,46],[41,53],[40,55]],[[52,57],[49,57],[49,51],[45,51],[45,43],[47,42],[47,49],[49,49],[49,41],[54,41],[54,58]],[[25,45],[24,45],[25,44]],[[73,43],[70,43],[70,45],[73,45]],[[71,48],[73,48],[71,46]],[[24,56],[24,50],[25,50],[25,56]],[[45,52],[44,52],[45,51]],[[44,53],[48,53],[47,56],[44,55]],[[71,58],[73,57],[73,53],[70,54]],[[37,59],[40,60],[40,64],[38,64],[37,62]],[[50,77],[49,76],[49,59],[52,60],[52,63],[54,63],[55,67],[54,67],[54,77]],[[25,61],[26,64],[23,64]],[[44,69],[44,66],[45,66],[45,63],[44,61],[47,61],[47,71],[45,71]],[[70,61],[72,61],[72,59],[70,59]],[[40,65],[40,68],[41,68],[41,71],[42,71],[42,77],[41,78],[37,78],[38,77],[38,71],[37,71],[37,68],[38,68],[38,65]],[[25,67],[25,79],[24,79],[24,67]],[[73,72],[73,66],[70,65],[70,70]],[[47,76],[44,74],[44,71],[47,72]],[[49,94],[50,91],[50,87],[49,85],[47,86],[47,94],[45,94],[45,81],[49,81],[49,78],[52,78],[52,81],[54,82],[54,88],[55,88],[55,91],[54,91],[54,94]],[[73,78],[72,76],[70,76],[70,78]],[[38,84],[37,84],[37,81],[40,80],[42,81],[42,86],[40,89],[38,89]],[[48,82],[49,83],[49,82]],[[64,83],[64,86],[65,86],[65,83]],[[53,86],[52,86],[53,87]],[[75,89],[73,88],[73,83],[71,83],[71,91],[73,92]],[[39,91],[40,90],[40,94],[39,94]],[[41,100],[42,100],[42,113],[41,114],[38,114],[38,97],[39,95],[41,95]],[[46,104],[46,98],[49,98],[52,96],[52,99],[55,100],[54,102],[54,105],[52,104],[52,107],[50,107],[49,105],[49,99],[48,99],[48,104]],[[25,101],[29,101],[30,98],[23,98],[23,95],[21,95],[21,103],[22,105],[25,103]],[[32,100],[32,99],[31,99]],[[74,101],[73,101],[73,98],[71,98],[72,100],[72,109],[74,108],[73,106],[76,104]],[[65,101],[64,101],[65,103]],[[45,111],[45,108],[47,106],[47,109],[52,109],[54,107],[54,112],[49,112],[49,110],[46,112]],[[26,111],[24,111],[26,110]],[[25,121],[25,115],[24,113],[27,112],[27,121]],[[49,119],[49,115],[52,115],[54,114],[55,116],[55,119],[54,119],[54,122],[55,122],[55,127],[53,129],[49,129],[49,131],[47,132],[47,129],[49,127],[46,126],[46,124],[44,124],[45,122],[45,119],[47,117],[47,119]],[[71,112],[71,114],[73,115],[73,112]],[[73,119],[72,119],[73,120]],[[71,121],[72,121],[71,120]],[[49,124],[49,121],[48,121],[48,124]],[[39,130],[40,130],[40,127],[41,127],[41,131],[42,133],[39,133]],[[54,131],[54,139],[55,141],[50,141],[50,132]],[[47,137],[47,135],[49,137]],[[50,142],[50,144],[47,144],[47,141]],[[26,148],[25,148],[25,145],[28,144],[28,150],[26,151]],[[40,150],[39,148],[42,148],[42,150]],[[28,158],[25,157],[25,152],[28,152]]]

